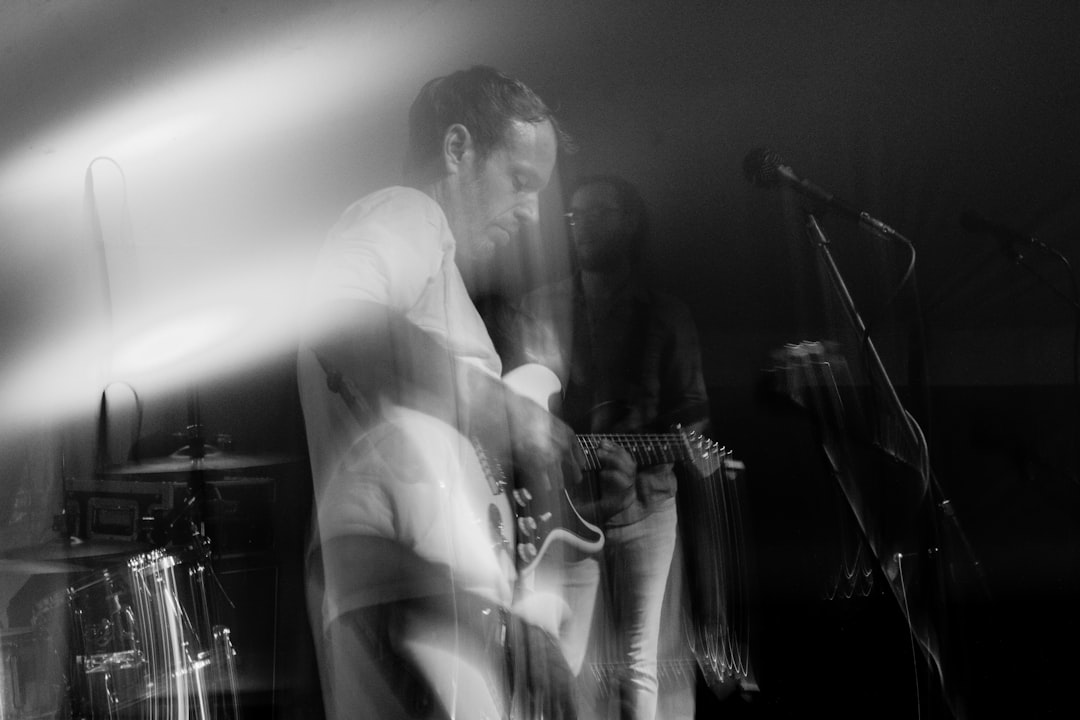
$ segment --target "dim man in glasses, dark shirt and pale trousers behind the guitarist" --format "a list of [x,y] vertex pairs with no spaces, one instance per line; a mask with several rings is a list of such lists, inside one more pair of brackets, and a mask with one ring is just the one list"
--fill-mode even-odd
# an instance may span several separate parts
[[[576,433],[666,433],[675,424],[703,431],[708,398],[689,310],[649,288],[639,272],[649,229],[640,194],[620,177],[594,175],[578,180],[569,198],[577,271],[522,300],[510,334],[518,347],[508,363],[538,363],[558,376],[558,413]],[[618,444],[600,447],[615,458],[610,465],[633,470],[586,474],[576,499],[606,541],[599,556],[565,566],[572,616],[589,616],[581,608],[592,603],[597,609],[591,627],[573,630],[579,647],[569,653],[570,664],[578,669],[588,653],[598,671],[579,673],[579,685],[606,676],[621,718],[652,720],[661,610],[676,554],[677,479],[671,463],[635,464]],[[678,623],[667,631],[681,633]],[[692,676],[692,664],[690,670]],[[606,717],[598,709],[606,703],[603,692],[586,687],[581,693],[594,710],[581,705],[582,715]],[[692,680],[684,682],[683,695],[679,714],[692,717]]]

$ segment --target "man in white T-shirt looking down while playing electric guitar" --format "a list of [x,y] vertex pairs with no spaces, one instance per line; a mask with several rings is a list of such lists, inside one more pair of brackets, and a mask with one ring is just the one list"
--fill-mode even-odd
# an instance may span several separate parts
[[316,261],[297,366],[330,718],[575,716],[553,640],[568,609],[519,582],[511,495],[572,486],[579,451],[503,384],[468,289],[537,221],[563,139],[491,68],[432,80],[409,112],[409,187],[350,206]]

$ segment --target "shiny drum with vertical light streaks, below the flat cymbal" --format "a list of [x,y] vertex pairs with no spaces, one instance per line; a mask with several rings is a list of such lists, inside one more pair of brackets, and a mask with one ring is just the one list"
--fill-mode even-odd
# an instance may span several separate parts
[[66,689],[70,717],[239,717],[235,650],[212,624],[208,557],[205,539],[133,555],[38,603],[35,637],[66,663],[37,679]]

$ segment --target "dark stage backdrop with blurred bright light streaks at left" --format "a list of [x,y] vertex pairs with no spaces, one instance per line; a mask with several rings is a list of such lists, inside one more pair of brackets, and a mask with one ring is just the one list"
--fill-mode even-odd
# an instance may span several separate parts
[[[784,343],[835,340],[864,383],[864,355],[807,242],[807,202],[742,175],[766,146],[914,246],[901,287],[903,244],[821,216],[926,433],[928,521],[948,499],[969,543],[928,547],[959,568],[944,588],[960,610],[936,617],[962,649],[950,667],[972,717],[1071,717],[1075,663],[1051,657],[1077,629],[1077,315],[1062,258],[1080,243],[1078,28],[1071,2],[5,2],[0,539],[43,542],[62,478],[93,484],[108,378],[127,383],[112,386],[114,460],[132,432],[183,441],[193,391],[238,450],[302,452],[291,341],[308,263],[345,206],[397,180],[422,82],[485,63],[537,90],[580,147],[492,291],[565,272],[559,187],[615,172],[649,205],[651,277],[697,317],[714,430],[746,463],[753,520],[760,692],[726,711],[948,712],[880,572],[868,597],[821,598],[845,499],[816,416],[766,370]],[[84,179],[99,155],[116,164],[93,165],[95,233]],[[1057,255],[1017,256],[962,229],[964,210]],[[144,411],[134,430],[124,388]],[[907,481],[903,466],[869,467],[865,487]]]

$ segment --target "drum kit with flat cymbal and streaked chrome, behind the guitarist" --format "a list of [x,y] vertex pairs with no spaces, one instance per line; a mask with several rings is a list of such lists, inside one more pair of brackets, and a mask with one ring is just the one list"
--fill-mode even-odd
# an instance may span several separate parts
[[229,627],[215,622],[224,589],[195,490],[203,472],[286,461],[206,446],[107,468],[200,478],[167,518],[186,526],[184,536],[102,542],[65,532],[62,542],[0,556],[0,575],[49,576],[53,588],[28,603],[28,622],[0,629],[0,720],[239,718],[237,650]]

